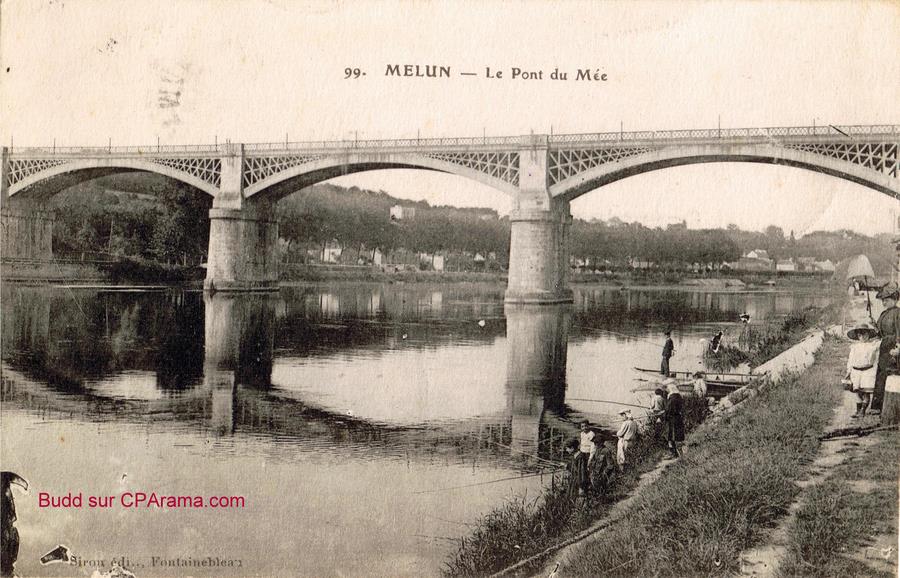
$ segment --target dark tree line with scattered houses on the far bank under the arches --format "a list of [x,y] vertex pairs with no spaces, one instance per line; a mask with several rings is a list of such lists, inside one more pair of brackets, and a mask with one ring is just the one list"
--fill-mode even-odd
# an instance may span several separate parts
[[[57,255],[110,253],[163,263],[196,264],[206,259],[211,199],[187,185],[159,175],[103,177],[63,191],[53,199]],[[415,211],[390,218],[400,205]],[[494,254],[505,265],[510,222],[491,209],[431,206],[401,201],[384,191],[321,184],[289,195],[275,208],[286,253],[336,243],[345,249],[388,253]],[[834,263],[867,254],[892,263],[889,235],[870,237],[852,231],[817,231],[795,238],[779,227],[744,231],[689,229],[684,223],[646,227],[613,218],[575,219],[569,234],[573,258],[589,266],[627,266],[634,261],[659,267],[722,264],[748,251],[763,249],[773,259],[813,257]]]

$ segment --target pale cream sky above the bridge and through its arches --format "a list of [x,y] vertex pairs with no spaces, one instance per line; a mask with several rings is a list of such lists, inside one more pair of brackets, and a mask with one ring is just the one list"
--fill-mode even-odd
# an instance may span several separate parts
[[[897,2],[4,0],[0,143],[482,136],[900,123]],[[450,66],[450,79],[385,76]],[[486,67],[507,78],[487,79]],[[544,80],[512,80],[512,67]],[[589,68],[606,82],[552,81]],[[344,79],[346,68],[365,76]],[[476,77],[460,77],[474,71]],[[339,184],[506,212],[462,177]],[[630,177],[580,218],[892,232],[900,202],[802,169],[707,164]]]

